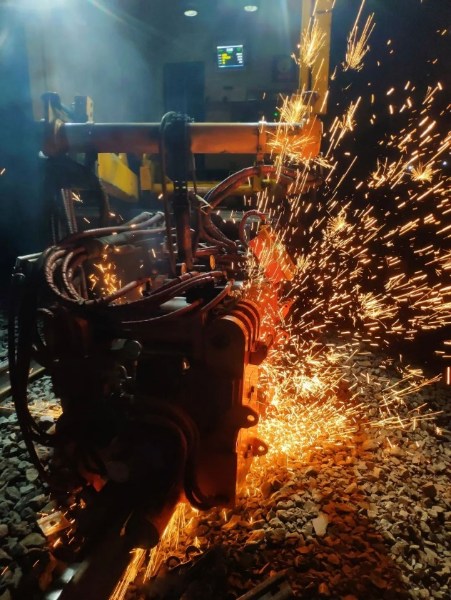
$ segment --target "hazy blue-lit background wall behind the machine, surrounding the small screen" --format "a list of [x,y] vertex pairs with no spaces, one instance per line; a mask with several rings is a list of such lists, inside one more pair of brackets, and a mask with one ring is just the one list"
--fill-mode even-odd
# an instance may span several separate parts
[[[255,13],[242,0],[201,3],[198,17],[187,18],[183,0],[17,0],[35,117],[42,116],[41,94],[52,90],[65,103],[91,96],[97,121],[159,120],[167,63],[205,63],[205,98],[220,120],[218,102],[285,91],[273,80],[273,58],[296,48],[300,0],[262,0]],[[216,46],[232,43],[244,44],[246,67],[219,70]]]

